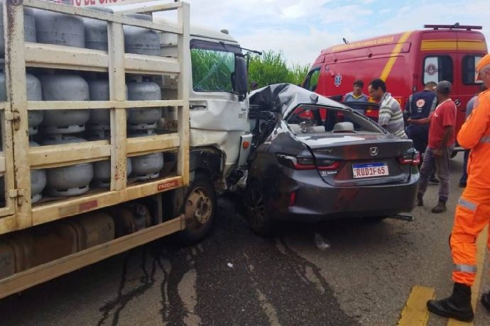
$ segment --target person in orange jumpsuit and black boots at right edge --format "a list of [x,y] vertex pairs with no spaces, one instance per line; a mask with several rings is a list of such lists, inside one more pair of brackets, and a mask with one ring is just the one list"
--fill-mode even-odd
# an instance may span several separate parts
[[[479,78],[490,87],[490,55],[477,64]],[[451,254],[454,262],[452,295],[429,300],[430,312],[470,322],[474,318],[472,288],[477,275],[477,245],[481,230],[490,222],[490,91],[479,94],[472,111],[457,135],[459,145],[471,150],[468,159],[468,182],[459,198],[451,232]],[[490,247],[490,246],[489,246]],[[490,292],[481,296],[490,311]]]

